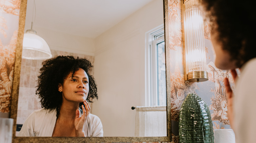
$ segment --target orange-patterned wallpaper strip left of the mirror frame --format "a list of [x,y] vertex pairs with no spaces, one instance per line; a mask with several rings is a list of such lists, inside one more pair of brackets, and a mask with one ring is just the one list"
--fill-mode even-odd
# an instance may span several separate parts
[[9,113],[20,0],[0,0],[0,112]]

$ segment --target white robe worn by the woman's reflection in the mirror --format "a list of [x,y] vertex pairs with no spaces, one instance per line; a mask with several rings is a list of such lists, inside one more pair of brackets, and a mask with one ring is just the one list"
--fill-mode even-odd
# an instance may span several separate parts
[[[36,110],[26,119],[18,136],[52,136],[55,122],[56,110],[51,112],[44,108]],[[96,115],[88,115],[84,132],[88,137],[103,136],[102,123]]]

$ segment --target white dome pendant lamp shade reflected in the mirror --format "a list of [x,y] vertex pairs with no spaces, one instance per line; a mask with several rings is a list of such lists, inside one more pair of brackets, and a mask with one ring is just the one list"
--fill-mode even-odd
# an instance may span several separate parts
[[32,32],[24,34],[22,58],[32,60],[44,60],[51,57],[52,54],[50,47],[43,38]]

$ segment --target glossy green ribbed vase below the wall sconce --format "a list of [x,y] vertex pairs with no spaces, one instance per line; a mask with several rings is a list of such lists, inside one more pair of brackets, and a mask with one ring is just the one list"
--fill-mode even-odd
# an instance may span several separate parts
[[181,105],[179,138],[180,143],[214,143],[209,107],[196,94],[189,93]]

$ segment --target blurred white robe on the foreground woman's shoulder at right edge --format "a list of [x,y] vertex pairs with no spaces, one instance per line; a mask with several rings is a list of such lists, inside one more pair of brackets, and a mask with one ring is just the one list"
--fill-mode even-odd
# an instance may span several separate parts
[[256,58],[241,69],[233,99],[234,125],[237,143],[256,142]]

